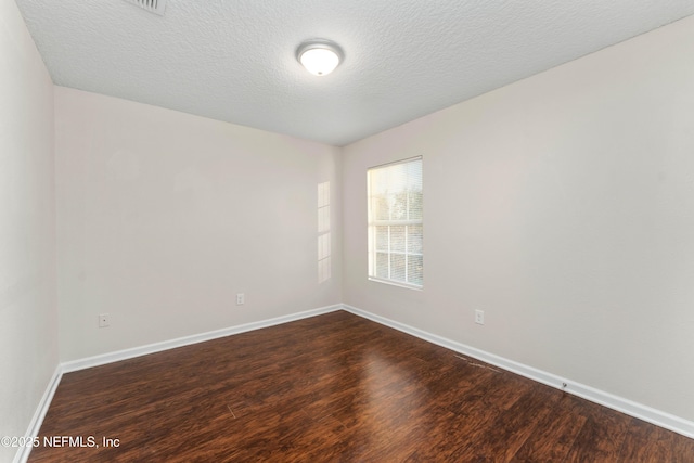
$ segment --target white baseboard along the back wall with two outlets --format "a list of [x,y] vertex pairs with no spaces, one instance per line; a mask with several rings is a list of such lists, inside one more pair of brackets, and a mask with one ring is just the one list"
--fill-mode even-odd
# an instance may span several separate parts
[[189,346],[191,344],[204,343],[206,340],[217,339],[220,337],[231,336],[233,334],[246,333],[248,331],[260,330],[264,327],[274,326],[296,320],[307,319],[323,313],[342,310],[343,305],[321,307],[319,309],[307,310],[304,312],[292,313],[288,316],[277,317],[268,320],[246,323],[236,326],[229,326],[221,330],[209,331],[207,333],[193,334],[191,336],[179,337],[176,339],[163,340],[160,343],[147,344],[146,346],[133,347],[130,349],[117,350],[115,352],[102,353],[100,356],[88,357],[86,359],[72,360],[64,362],[63,373],[70,373],[78,370],[90,369],[92,366],[104,365],[106,363],[118,362],[120,360],[132,359],[134,357],[146,356],[150,353],[160,352],[163,350],[175,349],[177,347]]

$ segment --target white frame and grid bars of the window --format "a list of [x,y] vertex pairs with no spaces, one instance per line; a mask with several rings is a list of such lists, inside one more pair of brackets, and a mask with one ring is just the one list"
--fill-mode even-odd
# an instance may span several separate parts
[[[420,171],[421,171],[421,178],[419,179],[420,184],[421,184],[421,214],[420,217],[421,218],[411,218],[410,213],[412,211],[411,209],[411,204],[410,204],[410,195],[407,194],[409,193],[409,190],[404,190],[402,191],[402,193],[407,194],[407,206],[406,206],[406,210],[407,210],[407,218],[406,219],[393,219],[393,217],[389,217],[387,220],[384,219],[376,219],[374,217],[375,213],[374,213],[374,207],[373,207],[373,201],[376,198],[381,198],[383,200],[383,197],[380,197],[378,195],[374,194],[372,192],[373,189],[373,180],[372,180],[372,172],[378,170],[378,169],[384,169],[384,168],[388,168],[388,167],[394,167],[397,165],[402,165],[402,164],[410,164],[410,163],[414,163],[414,162],[419,162],[420,163]],[[398,192],[391,193],[391,194],[397,194]],[[387,195],[386,195],[387,196]],[[389,215],[391,216],[391,209],[389,209]],[[383,250],[380,249],[377,246],[377,230],[380,227],[387,227],[388,229],[388,244],[387,244],[387,250]],[[394,250],[393,249],[393,245],[390,243],[391,240],[391,227],[404,227],[404,237],[402,239],[403,243],[404,243],[404,250]],[[420,227],[421,228],[421,242],[420,242],[420,250],[419,252],[411,252],[409,249],[409,230],[410,227]],[[372,166],[369,167],[367,169],[367,240],[368,240],[368,279],[369,281],[374,281],[377,283],[385,283],[385,284],[390,284],[390,285],[395,285],[395,286],[401,286],[401,287],[406,287],[406,288],[410,288],[410,290],[419,290],[422,291],[424,288],[424,159],[423,156],[415,156],[415,157],[410,157],[407,159],[401,159],[401,160],[396,160],[393,163],[387,163],[387,164],[382,164],[382,165],[377,165],[377,166]],[[388,278],[384,278],[384,276],[378,276],[377,275],[377,255],[378,254],[386,254],[387,260],[388,260]],[[403,280],[398,280],[398,279],[394,279],[391,278],[391,270],[390,270],[390,266],[391,266],[391,256],[394,255],[402,255],[404,256],[404,281]],[[419,259],[421,259],[422,261],[422,275],[421,275],[421,284],[420,283],[415,283],[413,282],[408,272],[410,270],[409,268],[409,259],[411,257],[417,257]]]

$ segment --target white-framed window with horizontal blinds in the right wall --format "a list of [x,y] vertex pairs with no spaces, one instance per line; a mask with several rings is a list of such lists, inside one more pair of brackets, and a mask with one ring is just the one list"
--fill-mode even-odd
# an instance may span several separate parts
[[421,288],[424,283],[422,158],[367,172],[369,279]]

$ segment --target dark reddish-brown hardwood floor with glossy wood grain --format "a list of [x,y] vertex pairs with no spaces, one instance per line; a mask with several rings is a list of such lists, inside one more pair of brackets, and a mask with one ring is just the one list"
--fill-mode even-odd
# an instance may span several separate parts
[[55,436],[85,447],[29,461],[694,462],[692,439],[343,311],[65,374]]

